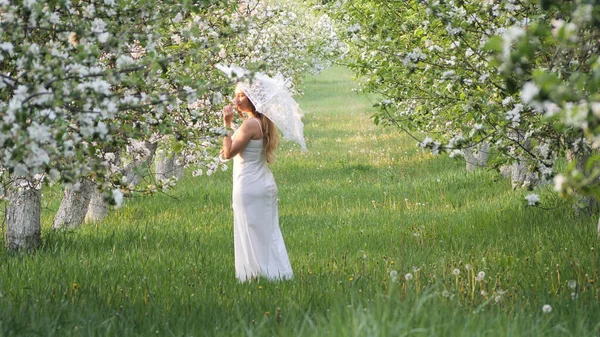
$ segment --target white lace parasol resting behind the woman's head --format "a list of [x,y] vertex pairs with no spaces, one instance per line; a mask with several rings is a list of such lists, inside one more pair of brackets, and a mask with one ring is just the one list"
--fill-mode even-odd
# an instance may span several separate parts
[[[216,65],[229,78],[235,75],[241,79],[248,72],[237,66]],[[250,99],[256,111],[267,116],[287,140],[294,141],[306,151],[304,141],[304,124],[302,123],[302,110],[290,94],[283,75],[277,74],[269,77],[262,73],[255,73],[252,84],[240,82],[242,90]]]

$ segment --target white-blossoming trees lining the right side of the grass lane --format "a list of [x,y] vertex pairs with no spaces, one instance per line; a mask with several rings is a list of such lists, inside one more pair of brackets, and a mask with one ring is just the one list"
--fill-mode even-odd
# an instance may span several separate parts
[[[552,178],[557,158],[587,158],[594,124],[574,120],[594,106],[581,99],[597,95],[594,73],[583,77],[598,54],[594,6],[348,0],[338,10],[350,66],[365,92],[382,97],[376,123],[423,132],[420,146],[462,155],[467,167],[484,165],[489,152],[491,166],[508,171],[515,187]],[[571,172],[579,177],[573,190],[595,190],[588,188],[595,176]]]

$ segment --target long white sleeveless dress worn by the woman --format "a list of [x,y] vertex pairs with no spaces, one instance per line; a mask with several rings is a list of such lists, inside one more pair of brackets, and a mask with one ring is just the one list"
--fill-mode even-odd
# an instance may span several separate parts
[[279,229],[277,185],[267,166],[262,139],[251,139],[233,158],[233,217],[236,277],[242,282],[259,276],[292,278]]

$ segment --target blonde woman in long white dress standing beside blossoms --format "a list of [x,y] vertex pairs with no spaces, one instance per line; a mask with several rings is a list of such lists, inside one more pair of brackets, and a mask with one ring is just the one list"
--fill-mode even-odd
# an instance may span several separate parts
[[279,229],[277,185],[267,166],[275,159],[279,134],[273,122],[256,111],[244,92],[235,88],[235,105],[248,118],[231,135],[232,106],[223,109],[228,132],[221,157],[233,158],[233,216],[236,277],[244,282],[260,276],[292,278],[292,266]]

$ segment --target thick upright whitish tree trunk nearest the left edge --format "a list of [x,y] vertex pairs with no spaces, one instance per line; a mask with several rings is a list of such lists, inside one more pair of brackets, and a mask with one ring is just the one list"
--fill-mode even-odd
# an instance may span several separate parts
[[[31,187],[19,187],[26,182]],[[31,182],[18,179],[8,191],[6,207],[6,246],[9,250],[34,250],[41,242],[41,190]]]

